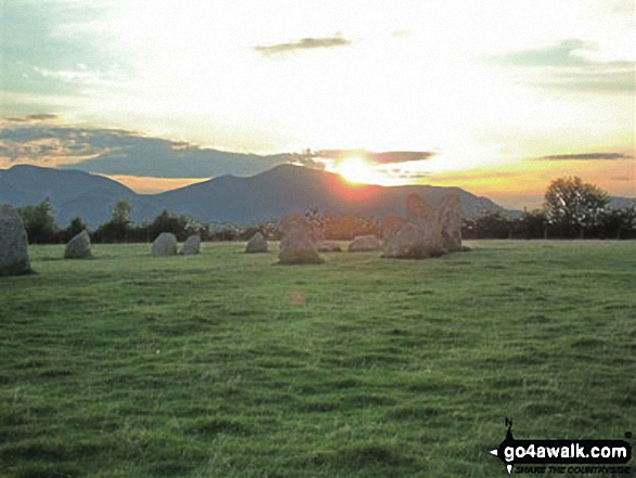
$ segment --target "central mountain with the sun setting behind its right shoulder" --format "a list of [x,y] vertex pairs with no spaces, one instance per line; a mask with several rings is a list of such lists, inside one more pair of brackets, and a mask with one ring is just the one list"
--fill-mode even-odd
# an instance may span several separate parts
[[420,194],[430,204],[449,193],[457,194],[464,215],[470,217],[483,209],[506,211],[459,188],[351,185],[333,172],[294,165],[276,166],[249,178],[224,176],[157,196],[174,212],[191,214],[203,221],[247,223],[309,208],[380,218],[404,215],[411,193]]

